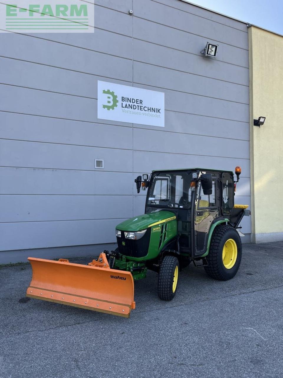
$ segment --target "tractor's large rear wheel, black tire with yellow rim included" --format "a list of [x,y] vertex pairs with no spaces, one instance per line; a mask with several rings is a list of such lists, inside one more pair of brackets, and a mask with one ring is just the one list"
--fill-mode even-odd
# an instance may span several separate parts
[[216,227],[206,257],[206,273],[217,280],[229,280],[237,273],[241,257],[241,239],[235,228],[227,225]]

